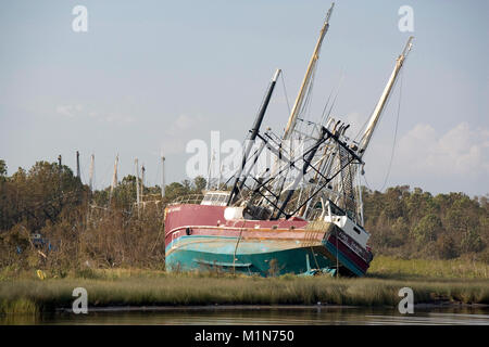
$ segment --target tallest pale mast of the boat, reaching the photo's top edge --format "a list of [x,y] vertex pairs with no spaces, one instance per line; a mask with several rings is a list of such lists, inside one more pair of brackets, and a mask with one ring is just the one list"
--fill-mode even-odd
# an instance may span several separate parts
[[296,102],[292,107],[292,112],[289,117],[289,121],[287,123],[286,130],[284,132],[284,140],[290,139],[293,128],[296,127],[297,117],[299,116],[302,105],[304,102],[305,93],[311,85],[311,79],[314,69],[316,68],[316,63],[319,60],[319,50],[323,43],[323,39],[328,31],[329,28],[329,17],[331,16],[333,8],[335,7],[335,2],[329,8],[326,18],[323,24],[323,28],[321,29],[319,38],[317,39],[316,47],[314,48],[313,55],[311,56],[311,61],[309,62],[308,70],[305,73],[304,79],[301,85],[301,89],[299,90],[299,94],[297,95]]

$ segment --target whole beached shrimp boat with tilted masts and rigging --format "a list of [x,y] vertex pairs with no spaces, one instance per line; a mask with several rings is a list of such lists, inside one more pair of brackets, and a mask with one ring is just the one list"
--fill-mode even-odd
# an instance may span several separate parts
[[[280,74],[278,69],[246,141],[242,163],[229,190],[186,196],[165,209],[168,271],[218,268],[248,274],[341,273],[362,277],[373,254],[363,228],[360,175],[363,155],[411,47],[409,39],[359,142],[348,124],[324,114],[304,118],[304,103],[323,39],[327,12],[299,95],[280,137],[261,125]],[[326,110],[326,107],[325,107]],[[298,146],[297,143],[300,143]],[[268,167],[258,170],[265,152]]]

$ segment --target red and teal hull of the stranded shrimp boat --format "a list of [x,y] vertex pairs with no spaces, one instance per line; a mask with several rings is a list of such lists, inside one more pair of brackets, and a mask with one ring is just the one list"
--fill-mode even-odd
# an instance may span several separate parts
[[[165,213],[168,271],[218,269],[233,273],[279,275],[319,272],[362,277],[368,255],[334,224],[308,229],[301,219],[225,221],[224,208],[179,205]],[[201,217],[203,216],[203,217]]]

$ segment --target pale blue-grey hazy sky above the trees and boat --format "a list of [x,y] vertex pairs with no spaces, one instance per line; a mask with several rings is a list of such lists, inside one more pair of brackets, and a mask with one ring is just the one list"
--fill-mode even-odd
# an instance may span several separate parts
[[[72,13],[87,9],[87,31]],[[413,9],[413,33],[398,13]],[[0,1],[0,158],[9,175],[37,160],[75,170],[96,188],[118,177],[186,179],[189,141],[242,141],[276,68],[264,126],[281,134],[330,1]],[[436,193],[489,193],[487,1],[336,1],[315,76],[311,114],[331,91],[351,134],[369,117],[410,35],[415,37],[365,155],[373,190],[409,184]],[[285,86],[285,88],[284,88]],[[400,103],[399,120],[398,106]],[[398,124],[396,131],[396,124]],[[393,159],[389,169],[393,149]]]

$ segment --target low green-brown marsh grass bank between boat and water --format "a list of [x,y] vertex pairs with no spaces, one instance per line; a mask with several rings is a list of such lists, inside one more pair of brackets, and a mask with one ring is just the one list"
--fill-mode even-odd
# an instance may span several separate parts
[[[394,262],[396,264],[396,262]],[[380,271],[379,269],[375,271]],[[386,271],[386,270],[384,270]],[[489,304],[489,281],[476,279],[333,279],[330,277],[231,277],[168,274],[145,270],[93,270],[84,277],[0,281],[0,312],[40,312],[71,308],[75,287],[88,292],[89,307],[177,305],[398,305],[401,287],[416,304]]]

